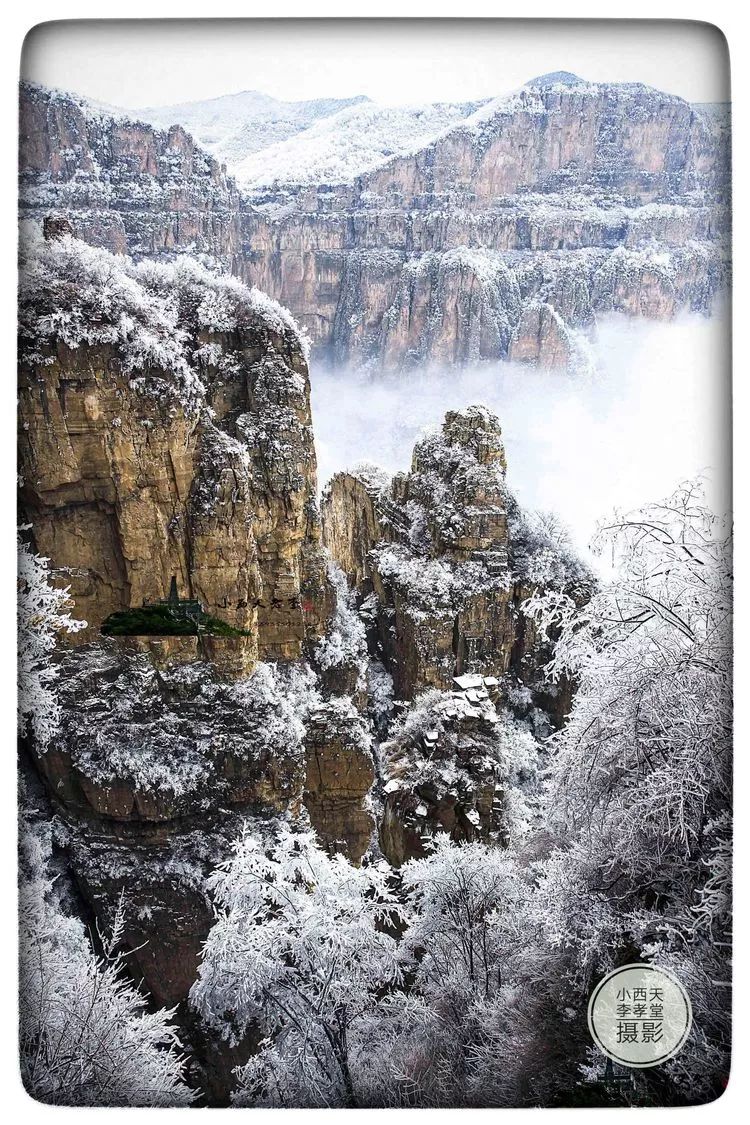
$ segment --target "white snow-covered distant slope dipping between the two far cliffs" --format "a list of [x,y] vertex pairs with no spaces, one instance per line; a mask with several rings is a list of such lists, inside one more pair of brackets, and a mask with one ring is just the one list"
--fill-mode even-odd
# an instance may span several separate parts
[[355,98],[315,98],[310,101],[279,101],[257,90],[243,90],[205,101],[174,106],[151,106],[134,116],[160,129],[182,125],[195,140],[229,170],[269,145],[315,126],[341,110],[365,104]]

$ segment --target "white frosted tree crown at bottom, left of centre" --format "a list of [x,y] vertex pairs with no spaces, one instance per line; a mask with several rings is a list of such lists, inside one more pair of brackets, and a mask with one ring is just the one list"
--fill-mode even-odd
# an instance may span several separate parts
[[280,825],[269,847],[249,826],[209,880],[217,920],[190,1004],[231,1042],[252,1023],[282,1032],[290,1011],[304,1027],[300,1009],[313,1014],[313,1036],[318,1024],[331,1033],[358,1019],[383,983],[400,981],[389,874],[326,855],[311,832]]

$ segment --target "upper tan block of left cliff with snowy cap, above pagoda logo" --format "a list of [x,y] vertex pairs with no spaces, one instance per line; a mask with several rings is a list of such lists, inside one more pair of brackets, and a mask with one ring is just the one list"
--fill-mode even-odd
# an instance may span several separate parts
[[66,235],[29,254],[20,316],[22,504],[80,639],[177,575],[247,631],[240,670],[300,656],[332,597],[290,318],[195,263],[138,269]]

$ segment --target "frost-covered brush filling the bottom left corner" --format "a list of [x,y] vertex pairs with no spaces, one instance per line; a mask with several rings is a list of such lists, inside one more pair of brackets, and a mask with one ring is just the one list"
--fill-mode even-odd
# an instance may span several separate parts
[[21,824],[20,1066],[39,1101],[64,1106],[186,1106],[195,1099],[172,1012],[148,1011],[117,952],[118,911],[96,956],[51,873],[49,821]]

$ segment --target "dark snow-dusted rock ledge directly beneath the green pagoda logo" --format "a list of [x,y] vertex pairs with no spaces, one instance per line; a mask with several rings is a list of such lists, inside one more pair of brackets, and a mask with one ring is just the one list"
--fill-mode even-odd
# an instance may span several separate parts
[[60,731],[38,757],[54,800],[154,831],[220,809],[299,813],[304,727],[273,668],[226,683],[213,664],[154,662],[118,639],[63,652]]

